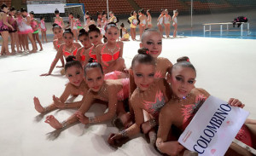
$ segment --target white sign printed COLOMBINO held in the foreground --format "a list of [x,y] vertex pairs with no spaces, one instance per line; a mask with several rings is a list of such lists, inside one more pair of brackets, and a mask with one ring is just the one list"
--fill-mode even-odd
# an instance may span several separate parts
[[190,151],[199,155],[224,155],[249,113],[214,96],[209,96],[179,137]]

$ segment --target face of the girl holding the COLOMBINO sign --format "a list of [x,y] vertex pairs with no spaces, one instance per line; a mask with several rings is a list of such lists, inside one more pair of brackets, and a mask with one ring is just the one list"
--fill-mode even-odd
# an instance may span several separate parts
[[172,93],[182,99],[195,88],[195,70],[190,67],[175,66],[172,69],[169,82],[171,82]]

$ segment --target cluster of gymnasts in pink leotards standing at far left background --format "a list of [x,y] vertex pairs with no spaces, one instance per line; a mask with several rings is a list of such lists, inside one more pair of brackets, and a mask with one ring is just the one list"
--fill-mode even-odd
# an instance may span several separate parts
[[[9,9],[5,3],[1,5],[0,11],[0,33],[3,38],[1,55],[15,55],[16,52],[29,51],[31,53],[42,51],[42,43],[38,36],[41,30],[42,42],[47,42],[46,26],[44,17],[40,21],[34,18],[34,12],[27,13],[26,9]],[[11,52],[9,52],[9,37],[11,39]],[[28,39],[32,43],[32,50],[29,49]],[[40,49],[38,49],[38,42]]]

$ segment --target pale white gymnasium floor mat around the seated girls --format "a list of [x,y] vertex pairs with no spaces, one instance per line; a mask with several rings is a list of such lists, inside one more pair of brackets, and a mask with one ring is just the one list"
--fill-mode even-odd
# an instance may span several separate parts
[[[189,56],[197,70],[196,87],[226,101],[230,97],[240,99],[251,113],[249,117],[256,119],[255,44],[253,39],[178,37],[163,40],[160,56],[172,63],[180,56]],[[137,41],[125,42],[126,66],[131,65],[138,47]],[[109,147],[108,134],[118,131],[110,121],[75,124],[63,131],[45,124],[45,116],[36,112],[32,99],[38,96],[46,106],[52,95],[60,96],[64,90],[67,78],[61,76],[60,69],[49,77],[39,77],[49,71],[55,54],[52,43],[44,43],[44,51],[36,54],[0,56],[0,155],[160,155],[141,135],[118,149]],[[105,108],[96,104],[86,115],[102,114]],[[74,112],[67,109],[49,114],[63,121]]]

